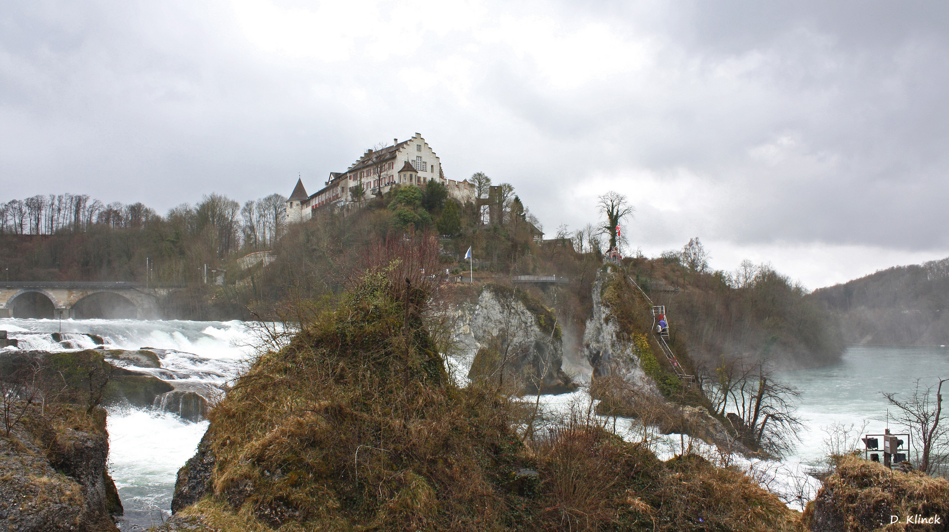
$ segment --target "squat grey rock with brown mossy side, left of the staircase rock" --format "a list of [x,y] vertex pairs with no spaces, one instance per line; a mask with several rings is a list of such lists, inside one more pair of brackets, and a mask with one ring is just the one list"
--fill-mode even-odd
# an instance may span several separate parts
[[477,305],[462,305],[459,343],[471,360],[471,379],[513,379],[527,390],[576,388],[561,369],[564,349],[556,315],[522,290],[485,285]]

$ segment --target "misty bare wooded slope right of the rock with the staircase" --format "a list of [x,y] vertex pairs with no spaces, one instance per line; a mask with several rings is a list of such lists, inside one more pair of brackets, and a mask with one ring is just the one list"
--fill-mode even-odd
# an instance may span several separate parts
[[767,264],[710,271],[695,252],[687,245],[681,253],[633,258],[629,271],[655,304],[666,306],[673,342],[683,336],[698,366],[714,369],[722,357],[790,368],[838,360],[844,339],[803,287]]

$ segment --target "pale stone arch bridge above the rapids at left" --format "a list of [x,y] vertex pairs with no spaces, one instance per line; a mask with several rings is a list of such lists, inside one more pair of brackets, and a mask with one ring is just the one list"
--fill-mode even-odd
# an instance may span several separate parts
[[0,281],[0,317],[160,317],[158,299],[182,286],[124,281]]

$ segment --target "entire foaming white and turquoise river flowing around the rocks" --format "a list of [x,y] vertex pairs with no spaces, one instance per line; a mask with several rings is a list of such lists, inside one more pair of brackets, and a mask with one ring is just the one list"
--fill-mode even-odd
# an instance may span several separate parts
[[[52,333],[60,328],[63,332],[99,334],[109,348],[167,350],[162,365],[172,371],[142,370],[165,380],[192,381],[209,387],[220,386],[237,375],[258,342],[248,324],[239,321],[90,319],[64,320],[61,324],[56,320],[0,319],[0,330],[8,330],[11,337],[21,332],[20,337],[27,338],[25,349],[64,349],[46,335],[28,334]],[[70,347],[74,349],[95,347],[91,342],[83,345],[87,340],[81,336],[72,341]],[[880,391],[911,393],[917,378],[922,379],[923,386],[930,386],[939,376],[949,377],[949,349],[940,347],[851,347],[839,364],[780,373],[782,380],[801,392],[798,413],[806,428],[798,434],[800,443],[794,455],[781,464],[743,464],[757,468],[759,473],[770,467],[771,477],[764,475],[762,482],[787,488],[793,474],[799,476],[803,468],[826,453],[826,428],[833,424],[861,428],[866,421],[867,432],[883,432],[887,405]],[[564,411],[570,402],[583,404],[586,400],[582,391],[543,397],[544,405],[552,411]],[[194,454],[207,422],[182,421],[175,414],[150,409],[110,408],[108,414],[109,468],[125,507],[120,528],[145,530],[170,515],[177,469]],[[889,428],[899,427],[891,422]],[[629,428],[618,427],[621,430]],[[658,450],[671,453],[678,442],[678,435],[670,435],[666,452]],[[775,473],[778,469],[784,472]]]

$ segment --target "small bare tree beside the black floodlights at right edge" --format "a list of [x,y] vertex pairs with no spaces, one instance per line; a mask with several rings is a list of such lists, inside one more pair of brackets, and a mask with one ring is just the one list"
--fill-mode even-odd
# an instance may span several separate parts
[[937,464],[942,464],[949,458],[949,427],[943,424],[940,427],[942,415],[942,383],[949,379],[940,379],[936,387],[936,398],[932,397],[934,387],[921,388],[920,380],[916,379],[916,388],[913,394],[904,401],[897,399],[898,393],[880,393],[890,405],[896,407],[893,416],[897,423],[909,429],[916,456],[919,461],[917,469],[929,473]]

